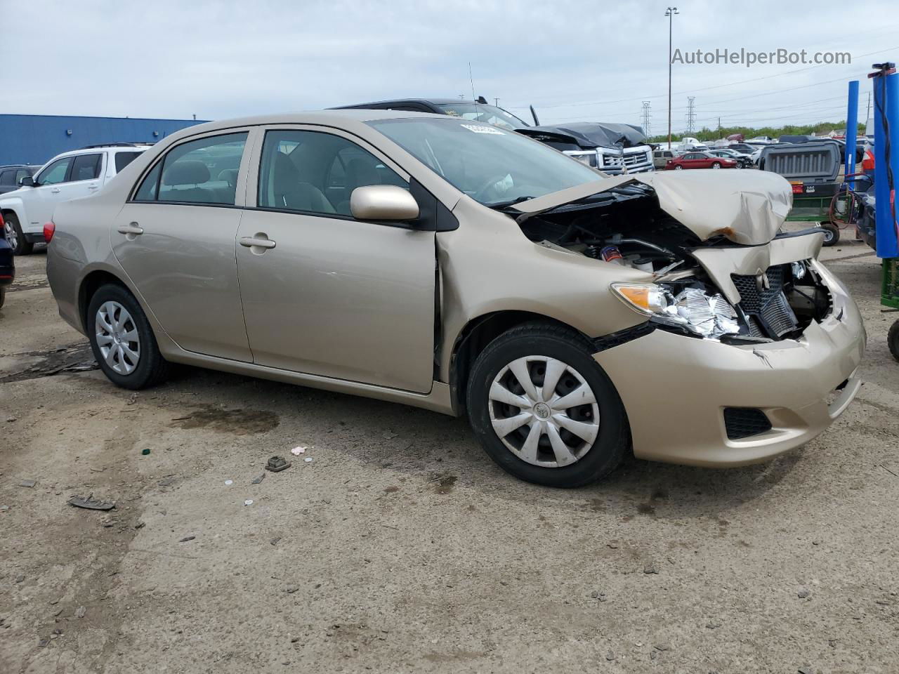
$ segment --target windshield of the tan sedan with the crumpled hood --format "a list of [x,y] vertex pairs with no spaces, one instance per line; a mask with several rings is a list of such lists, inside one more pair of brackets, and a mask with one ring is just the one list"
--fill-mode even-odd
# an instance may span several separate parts
[[485,206],[542,197],[604,177],[537,140],[485,124],[439,117],[368,124]]

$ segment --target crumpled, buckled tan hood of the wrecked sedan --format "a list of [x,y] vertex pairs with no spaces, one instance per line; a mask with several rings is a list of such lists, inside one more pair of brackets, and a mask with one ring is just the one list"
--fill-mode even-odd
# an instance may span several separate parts
[[659,207],[702,241],[723,235],[735,244],[767,244],[793,208],[793,191],[786,179],[777,173],[746,169],[616,175],[522,201],[512,208],[536,215],[628,182],[652,187]]

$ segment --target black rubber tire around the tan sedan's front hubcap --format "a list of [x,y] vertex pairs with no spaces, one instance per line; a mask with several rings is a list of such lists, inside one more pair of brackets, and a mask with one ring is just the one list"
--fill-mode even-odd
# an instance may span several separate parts
[[[578,333],[560,325],[532,323],[503,333],[478,356],[468,377],[468,421],[486,453],[504,471],[530,483],[573,488],[596,482],[619,465],[628,448],[627,415],[618,391],[591,353],[592,345]],[[596,397],[601,420],[597,438],[568,466],[536,466],[522,460],[503,444],[490,420],[488,394],[494,377],[512,360],[532,355],[562,360],[580,373]]]

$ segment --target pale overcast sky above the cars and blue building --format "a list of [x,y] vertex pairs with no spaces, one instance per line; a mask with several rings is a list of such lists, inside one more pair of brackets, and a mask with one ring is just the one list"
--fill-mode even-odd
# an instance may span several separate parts
[[[649,101],[659,134],[667,126],[667,6],[0,0],[0,110],[216,120],[396,97],[470,98],[470,62],[475,93],[529,121],[533,103],[543,123],[641,123]],[[877,60],[899,60],[895,2],[690,0],[678,9],[675,49],[848,51],[852,63],[675,64],[675,133],[685,128],[688,95],[698,127],[716,126],[719,115],[723,126],[842,120],[850,78],[862,80],[864,119],[865,73]]]

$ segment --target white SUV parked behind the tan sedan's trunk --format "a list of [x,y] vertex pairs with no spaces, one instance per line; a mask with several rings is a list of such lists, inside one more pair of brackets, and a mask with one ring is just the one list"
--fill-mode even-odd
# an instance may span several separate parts
[[113,143],[87,146],[53,157],[18,190],[0,198],[4,235],[16,255],[27,255],[43,243],[44,224],[61,201],[86,197],[130,164],[147,145]]

